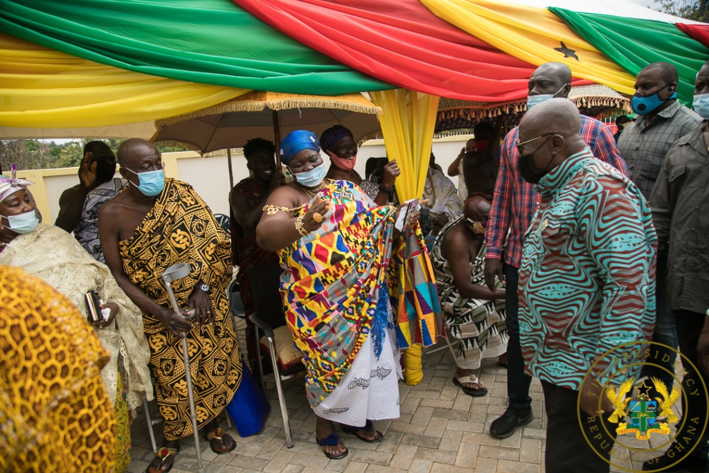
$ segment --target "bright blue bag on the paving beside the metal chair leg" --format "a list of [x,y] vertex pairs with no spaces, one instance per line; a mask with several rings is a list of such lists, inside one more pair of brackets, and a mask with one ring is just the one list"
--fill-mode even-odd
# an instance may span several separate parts
[[266,425],[271,405],[254,379],[244,360],[241,360],[241,384],[226,410],[234,421],[241,438],[259,433]]

